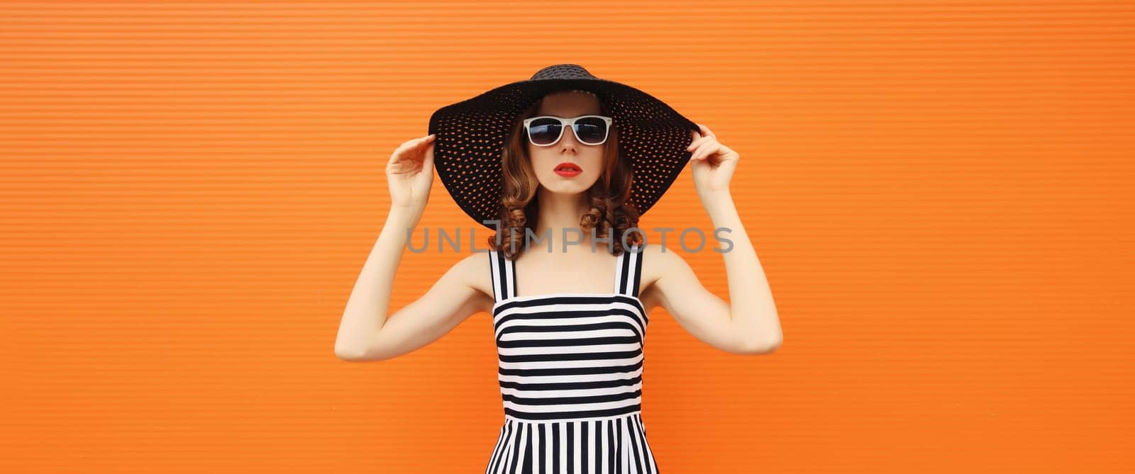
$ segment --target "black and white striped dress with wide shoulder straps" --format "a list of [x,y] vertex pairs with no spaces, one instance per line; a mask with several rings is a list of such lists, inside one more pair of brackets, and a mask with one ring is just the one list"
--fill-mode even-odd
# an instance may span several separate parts
[[504,424],[487,474],[658,473],[642,423],[642,254],[616,260],[614,293],[516,296],[489,249]]

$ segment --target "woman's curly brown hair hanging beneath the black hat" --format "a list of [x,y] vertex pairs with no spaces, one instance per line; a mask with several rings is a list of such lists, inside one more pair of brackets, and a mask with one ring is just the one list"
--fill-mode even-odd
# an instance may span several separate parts
[[[528,247],[524,240],[528,235],[527,229],[535,226],[537,221],[537,211],[539,210],[537,191],[540,183],[529,161],[523,120],[536,116],[541,101],[536,101],[520,115],[513,124],[501,153],[503,173],[501,227],[496,234],[488,238],[488,245],[508,260],[515,260]],[[604,116],[611,117],[611,112],[602,99],[599,100],[599,109]],[[612,124],[611,135],[604,144],[603,175],[587,191],[591,210],[579,220],[580,229],[585,234],[594,231],[596,237],[611,237],[612,230],[614,230],[615,237],[611,238],[609,244],[614,255],[620,255],[625,251],[621,236],[627,235],[630,245],[641,245],[644,240],[641,231],[627,231],[627,229],[638,227],[639,212],[634,204],[629,201],[634,173],[630,163],[621,158],[619,153],[619,122],[616,121]]]

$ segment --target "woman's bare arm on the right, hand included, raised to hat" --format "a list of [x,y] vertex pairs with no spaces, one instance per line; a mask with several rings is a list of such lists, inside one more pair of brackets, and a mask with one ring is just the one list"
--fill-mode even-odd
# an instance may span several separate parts
[[[697,283],[697,277],[681,259],[670,257],[657,281],[658,301],[688,330],[718,347],[732,340],[746,353],[770,353],[780,347],[783,333],[772,290],[748,232],[741,225],[729,191],[729,181],[740,155],[717,142],[706,126],[693,132],[690,168],[701,205],[715,229],[725,228],[732,247],[722,253],[729,279],[725,304]],[[714,232],[716,236],[717,234]],[[712,314],[707,314],[712,313]]]

